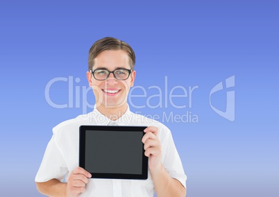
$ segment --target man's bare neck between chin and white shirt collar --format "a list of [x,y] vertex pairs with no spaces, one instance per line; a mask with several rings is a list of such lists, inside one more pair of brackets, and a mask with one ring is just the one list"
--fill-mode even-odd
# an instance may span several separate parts
[[128,104],[125,103],[124,105],[118,108],[99,105],[97,107],[97,110],[99,110],[99,112],[101,112],[101,114],[103,114],[105,117],[108,117],[112,121],[116,121],[126,112],[127,108]]

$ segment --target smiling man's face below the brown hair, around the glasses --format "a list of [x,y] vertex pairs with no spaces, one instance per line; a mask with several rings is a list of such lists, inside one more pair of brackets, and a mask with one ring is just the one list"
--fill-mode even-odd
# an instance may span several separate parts
[[[96,56],[92,69],[130,69],[128,54],[122,50],[103,51]],[[96,107],[103,105],[105,108],[120,108],[126,104],[128,91],[133,87],[135,71],[126,80],[117,80],[112,73],[105,80],[96,80],[88,71],[87,80],[93,89]]]

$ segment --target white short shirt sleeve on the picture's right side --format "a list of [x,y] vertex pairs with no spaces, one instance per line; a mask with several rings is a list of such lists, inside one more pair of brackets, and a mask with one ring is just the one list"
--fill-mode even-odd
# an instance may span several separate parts
[[164,169],[169,173],[171,178],[175,178],[186,188],[187,176],[183,169],[183,164],[178,155],[178,151],[174,144],[171,131],[167,130],[166,136],[161,142],[162,144],[162,163]]

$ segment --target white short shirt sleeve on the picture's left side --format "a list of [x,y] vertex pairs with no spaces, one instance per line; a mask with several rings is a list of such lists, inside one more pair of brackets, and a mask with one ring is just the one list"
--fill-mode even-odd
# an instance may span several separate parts
[[53,134],[37,171],[35,182],[46,182],[53,178],[62,181],[66,173],[68,169],[57,144],[56,134]]

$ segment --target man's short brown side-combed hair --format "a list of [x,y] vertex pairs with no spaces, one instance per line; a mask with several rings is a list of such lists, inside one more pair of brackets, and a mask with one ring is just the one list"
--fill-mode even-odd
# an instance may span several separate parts
[[124,50],[127,52],[130,57],[130,68],[134,69],[135,67],[135,52],[129,44],[122,40],[118,40],[115,37],[104,37],[100,40],[97,40],[89,50],[88,56],[88,69],[91,70],[94,67],[94,59],[99,53],[105,50]]

